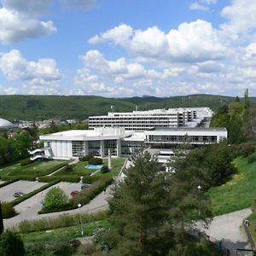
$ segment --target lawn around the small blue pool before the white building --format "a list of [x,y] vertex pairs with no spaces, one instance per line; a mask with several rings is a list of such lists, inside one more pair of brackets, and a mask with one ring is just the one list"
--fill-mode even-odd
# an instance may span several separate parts
[[[112,169],[111,172],[108,173],[102,173],[102,172],[97,172],[95,175],[96,176],[117,176],[122,168],[122,166],[125,163],[126,158],[125,157],[118,157],[118,158],[112,158]],[[88,162],[86,161],[79,161],[76,166],[73,167],[72,172],[65,172],[65,171],[60,171],[56,172],[55,176],[61,176],[61,175],[72,175],[72,176],[89,176],[91,173],[96,172],[97,170],[91,170],[85,168],[85,166],[88,166]],[[103,164],[108,166],[108,159],[103,159]]]

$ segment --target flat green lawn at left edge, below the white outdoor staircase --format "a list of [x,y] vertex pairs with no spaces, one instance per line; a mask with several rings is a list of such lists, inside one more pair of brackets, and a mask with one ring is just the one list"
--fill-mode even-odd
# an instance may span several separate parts
[[65,163],[67,163],[65,160],[36,161],[27,166],[20,166],[19,163],[0,169],[0,176],[44,176],[54,172],[56,167]]

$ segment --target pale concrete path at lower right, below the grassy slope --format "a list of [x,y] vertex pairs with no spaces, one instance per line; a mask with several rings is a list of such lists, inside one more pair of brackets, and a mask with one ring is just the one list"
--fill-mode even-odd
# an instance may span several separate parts
[[242,219],[247,218],[252,210],[247,208],[237,212],[230,212],[214,217],[212,223],[206,229],[202,224],[197,228],[206,232],[210,240],[222,244],[230,250],[230,255],[236,255],[236,249],[251,249],[247,235],[242,227]]

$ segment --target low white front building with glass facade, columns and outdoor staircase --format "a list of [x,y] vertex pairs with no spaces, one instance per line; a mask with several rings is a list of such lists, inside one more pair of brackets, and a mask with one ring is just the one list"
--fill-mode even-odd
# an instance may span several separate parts
[[125,128],[72,130],[40,136],[44,148],[31,151],[37,158],[72,159],[93,154],[107,156],[134,154],[142,146],[172,148],[180,143],[192,145],[218,143],[227,137],[225,128],[166,128],[151,131],[125,131]]

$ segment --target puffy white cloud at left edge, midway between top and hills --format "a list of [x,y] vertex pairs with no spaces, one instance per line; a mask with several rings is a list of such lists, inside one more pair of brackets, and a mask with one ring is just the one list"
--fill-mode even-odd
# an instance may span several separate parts
[[26,81],[31,85],[50,85],[61,80],[55,60],[26,61],[17,49],[0,54],[0,69],[9,81]]

